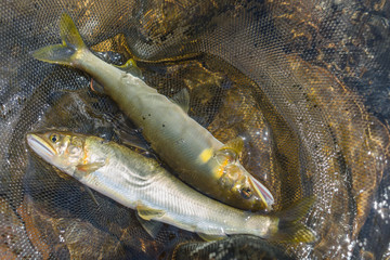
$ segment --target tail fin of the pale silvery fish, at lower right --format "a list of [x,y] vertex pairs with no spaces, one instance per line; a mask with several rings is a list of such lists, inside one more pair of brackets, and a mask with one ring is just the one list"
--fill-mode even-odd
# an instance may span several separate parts
[[270,239],[283,243],[310,243],[315,240],[313,232],[304,224],[299,223],[313,203],[315,197],[306,197],[290,207],[276,212],[277,217],[277,229],[271,232]]

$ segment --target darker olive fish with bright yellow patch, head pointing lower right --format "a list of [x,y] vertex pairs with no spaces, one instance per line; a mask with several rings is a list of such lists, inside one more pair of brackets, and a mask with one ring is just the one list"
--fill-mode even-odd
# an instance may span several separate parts
[[35,51],[35,58],[91,75],[142,130],[161,160],[194,188],[239,209],[272,209],[272,193],[239,161],[243,139],[237,136],[223,144],[190,117],[186,89],[169,99],[141,78],[100,60],[88,50],[66,13],[61,17],[60,29],[62,43]]

